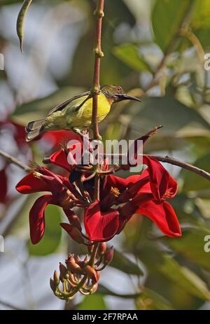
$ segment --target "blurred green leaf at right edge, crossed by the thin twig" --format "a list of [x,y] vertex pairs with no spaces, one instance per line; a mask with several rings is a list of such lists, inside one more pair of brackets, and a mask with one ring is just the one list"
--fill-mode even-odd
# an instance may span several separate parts
[[[199,167],[200,169],[204,169],[207,172],[210,172],[210,153],[197,159],[193,163],[193,165],[195,165],[195,167]],[[182,170],[181,175],[183,176],[184,181],[183,192],[210,189],[210,182],[202,176],[192,174],[191,172],[188,172],[186,170]]]

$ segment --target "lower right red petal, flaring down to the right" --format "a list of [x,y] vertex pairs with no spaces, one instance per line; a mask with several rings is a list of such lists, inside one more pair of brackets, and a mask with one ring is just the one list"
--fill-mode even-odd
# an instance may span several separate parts
[[162,204],[156,204],[153,201],[146,202],[137,209],[136,213],[150,218],[168,237],[181,237],[179,220],[168,202],[162,202]]

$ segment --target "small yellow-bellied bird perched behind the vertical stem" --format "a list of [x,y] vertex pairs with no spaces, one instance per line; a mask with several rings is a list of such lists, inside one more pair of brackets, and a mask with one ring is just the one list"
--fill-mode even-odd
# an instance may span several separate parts
[[[111,105],[122,100],[141,101],[123,92],[119,85],[104,85],[98,95],[98,122],[108,115]],[[57,129],[72,129],[80,133],[91,128],[92,97],[90,91],[78,94],[52,108],[47,117],[29,122],[26,127],[27,141],[35,139],[40,134]]]

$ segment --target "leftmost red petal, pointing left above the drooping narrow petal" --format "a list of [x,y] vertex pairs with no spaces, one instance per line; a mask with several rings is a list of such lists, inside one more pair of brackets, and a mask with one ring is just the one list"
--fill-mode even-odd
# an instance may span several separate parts
[[27,174],[22,180],[16,185],[16,190],[22,194],[31,194],[40,191],[50,191],[49,185],[45,183],[41,178],[35,177],[32,173]]

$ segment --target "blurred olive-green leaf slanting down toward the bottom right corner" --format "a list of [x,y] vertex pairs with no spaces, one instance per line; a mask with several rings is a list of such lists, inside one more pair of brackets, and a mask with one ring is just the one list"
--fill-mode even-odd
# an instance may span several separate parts
[[207,284],[187,267],[182,267],[173,258],[165,256],[165,261],[158,267],[160,272],[177,286],[202,300],[210,300]]

